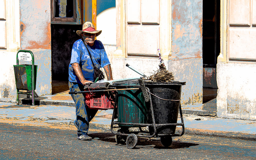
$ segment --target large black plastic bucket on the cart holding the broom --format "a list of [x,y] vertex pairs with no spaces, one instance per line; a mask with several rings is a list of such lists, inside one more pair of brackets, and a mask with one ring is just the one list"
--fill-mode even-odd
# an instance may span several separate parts
[[[156,124],[177,123],[181,86],[186,82],[146,82],[145,86],[149,88],[154,110]],[[156,97],[157,96],[157,97]],[[159,98],[158,98],[159,97]],[[161,99],[160,99],[161,98]],[[168,99],[168,100],[162,100]],[[177,101],[172,101],[177,100]],[[148,123],[152,122],[151,112],[148,112]],[[176,126],[157,127],[157,134],[175,134]],[[153,127],[149,127],[150,133],[154,132]]]

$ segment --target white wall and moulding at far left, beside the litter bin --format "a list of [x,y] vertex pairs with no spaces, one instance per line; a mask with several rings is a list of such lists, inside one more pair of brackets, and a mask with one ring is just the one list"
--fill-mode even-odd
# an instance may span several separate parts
[[[20,48],[19,32],[19,1],[2,1],[1,12],[4,13],[2,22],[6,22],[6,28],[0,27],[5,36],[1,42],[6,43],[6,49],[0,49],[0,101],[16,101],[16,85],[13,65],[16,65],[16,53]],[[3,16],[3,14],[2,14]]]

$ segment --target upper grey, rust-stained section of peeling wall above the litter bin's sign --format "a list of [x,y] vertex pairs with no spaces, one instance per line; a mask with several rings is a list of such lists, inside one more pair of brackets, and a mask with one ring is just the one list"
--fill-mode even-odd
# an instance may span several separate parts
[[22,49],[51,49],[50,0],[20,0],[20,41]]

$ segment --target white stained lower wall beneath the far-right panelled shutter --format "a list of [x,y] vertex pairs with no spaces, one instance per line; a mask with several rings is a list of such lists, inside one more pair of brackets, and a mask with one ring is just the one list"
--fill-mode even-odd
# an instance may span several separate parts
[[256,64],[217,64],[217,116],[256,120]]

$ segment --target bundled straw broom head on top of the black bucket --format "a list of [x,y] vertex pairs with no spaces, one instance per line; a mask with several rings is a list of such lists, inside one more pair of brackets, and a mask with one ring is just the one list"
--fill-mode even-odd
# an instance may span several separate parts
[[171,82],[174,80],[174,75],[166,69],[158,69],[153,75],[148,77],[148,80],[152,82]]

